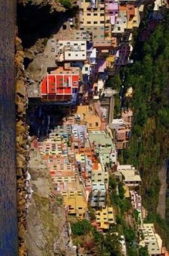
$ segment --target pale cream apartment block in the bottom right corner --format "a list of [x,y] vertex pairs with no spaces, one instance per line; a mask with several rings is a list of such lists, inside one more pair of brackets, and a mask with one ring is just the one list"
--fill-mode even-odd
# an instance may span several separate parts
[[143,224],[139,232],[144,236],[144,239],[140,236],[139,246],[147,246],[149,255],[160,256],[162,252],[162,240],[160,236],[155,232],[154,224]]

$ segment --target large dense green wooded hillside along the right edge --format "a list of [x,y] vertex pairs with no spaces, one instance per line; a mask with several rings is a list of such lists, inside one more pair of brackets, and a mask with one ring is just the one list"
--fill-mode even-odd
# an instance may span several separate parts
[[[165,222],[156,214],[160,182],[158,172],[168,157],[169,106],[169,12],[165,22],[156,25],[155,31],[145,43],[138,42],[135,62],[123,69],[124,89],[133,87],[133,98],[125,107],[134,110],[132,136],[129,148],[123,150],[122,161],[135,165],[142,176],[141,195],[149,221],[167,242]],[[150,203],[151,202],[151,203]]]

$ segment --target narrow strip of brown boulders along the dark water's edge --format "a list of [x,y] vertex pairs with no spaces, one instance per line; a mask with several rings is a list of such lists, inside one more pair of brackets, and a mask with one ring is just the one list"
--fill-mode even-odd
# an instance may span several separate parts
[[26,217],[27,217],[27,163],[29,160],[28,126],[26,116],[26,87],[24,74],[24,52],[21,40],[15,40],[16,55],[16,147],[17,147],[17,215],[18,215],[18,239],[19,256],[27,255],[25,244]]

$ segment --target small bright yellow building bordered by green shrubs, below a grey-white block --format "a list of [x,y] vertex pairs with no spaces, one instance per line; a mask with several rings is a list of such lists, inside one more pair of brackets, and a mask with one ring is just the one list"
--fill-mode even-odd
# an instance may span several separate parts
[[95,212],[96,223],[98,229],[109,229],[110,225],[115,224],[115,213],[113,207],[102,207],[101,210]]

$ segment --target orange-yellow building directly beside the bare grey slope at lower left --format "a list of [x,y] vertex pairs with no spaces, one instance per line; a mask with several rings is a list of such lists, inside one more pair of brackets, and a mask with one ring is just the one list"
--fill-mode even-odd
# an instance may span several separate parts
[[57,192],[63,196],[68,214],[83,219],[87,211],[87,202],[80,185],[77,182],[60,182],[57,183]]

